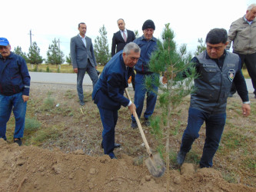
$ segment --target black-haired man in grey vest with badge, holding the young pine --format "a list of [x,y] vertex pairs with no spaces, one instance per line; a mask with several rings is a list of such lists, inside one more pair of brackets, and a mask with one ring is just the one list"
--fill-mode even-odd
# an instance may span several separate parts
[[[212,167],[213,157],[221,141],[226,121],[226,105],[231,84],[234,82],[241,97],[242,114],[250,114],[248,90],[241,73],[238,55],[226,51],[228,34],[223,28],[214,28],[206,37],[206,51],[192,58],[198,73],[194,79],[195,92],[191,94],[188,125],[181,140],[177,163],[185,161],[194,140],[199,137],[201,125],[206,125],[206,138],[200,167]],[[185,75],[185,73],[184,73]]]

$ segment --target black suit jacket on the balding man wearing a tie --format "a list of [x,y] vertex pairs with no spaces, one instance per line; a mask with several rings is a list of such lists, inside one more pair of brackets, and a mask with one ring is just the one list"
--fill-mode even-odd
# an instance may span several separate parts
[[126,31],[127,31],[127,41],[126,42],[125,42],[124,38],[121,36],[121,31],[117,31],[116,33],[114,33],[113,38],[112,38],[111,57],[113,57],[117,52],[119,52],[123,48],[125,48],[126,44],[135,40],[134,31],[130,31],[128,29],[126,29]]

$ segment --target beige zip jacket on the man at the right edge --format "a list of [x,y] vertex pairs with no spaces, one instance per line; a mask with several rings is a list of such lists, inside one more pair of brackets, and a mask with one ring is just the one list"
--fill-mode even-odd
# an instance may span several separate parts
[[238,54],[248,55],[256,52],[256,18],[248,24],[244,17],[238,18],[231,24],[228,31],[227,49],[231,47],[233,41],[233,51]]

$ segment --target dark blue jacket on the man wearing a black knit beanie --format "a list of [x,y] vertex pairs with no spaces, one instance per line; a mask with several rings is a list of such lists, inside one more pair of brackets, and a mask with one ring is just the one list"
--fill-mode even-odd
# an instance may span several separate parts
[[146,40],[144,35],[140,38],[135,39],[135,43],[141,48],[141,57],[138,59],[135,65],[135,71],[141,74],[151,74],[149,71],[148,63],[150,61],[152,52],[158,48],[157,38],[151,38],[151,40]]

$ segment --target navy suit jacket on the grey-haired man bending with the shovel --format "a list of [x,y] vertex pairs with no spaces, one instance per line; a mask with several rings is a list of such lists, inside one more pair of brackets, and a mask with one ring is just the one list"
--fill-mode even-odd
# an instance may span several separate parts
[[132,68],[125,66],[122,51],[108,61],[91,95],[99,108],[114,111],[121,108],[121,105],[126,107],[129,104],[124,91],[128,87],[128,77],[131,71]]

